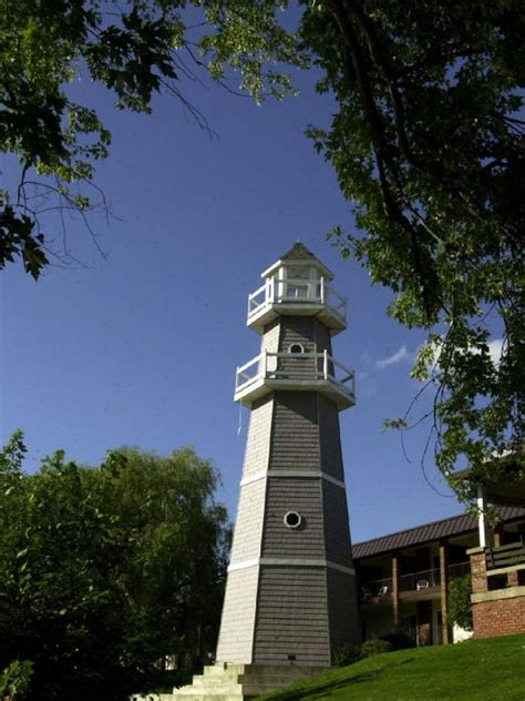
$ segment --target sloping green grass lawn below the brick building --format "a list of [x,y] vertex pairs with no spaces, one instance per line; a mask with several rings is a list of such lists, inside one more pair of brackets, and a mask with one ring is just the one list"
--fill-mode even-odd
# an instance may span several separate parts
[[259,699],[525,701],[525,634],[387,652]]

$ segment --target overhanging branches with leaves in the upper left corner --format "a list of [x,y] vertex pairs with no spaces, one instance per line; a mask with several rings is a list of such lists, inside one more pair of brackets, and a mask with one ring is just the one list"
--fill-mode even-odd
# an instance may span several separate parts
[[[257,100],[291,90],[289,77],[271,63],[305,61],[294,34],[275,18],[280,4],[286,2],[4,0],[0,150],[16,155],[20,173],[0,191],[0,268],[21,257],[37,278],[51,256],[60,256],[53,241],[65,234],[64,213],[93,233],[86,212],[105,205],[92,177],[96,161],[109,155],[111,134],[94,110],[71,99],[69,83],[87,75],[115,93],[117,109],[137,112],[150,112],[152,95],[163,90],[207,129],[178,87],[195,70],[222,82],[230,64]],[[47,233],[50,210],[62,219]]]

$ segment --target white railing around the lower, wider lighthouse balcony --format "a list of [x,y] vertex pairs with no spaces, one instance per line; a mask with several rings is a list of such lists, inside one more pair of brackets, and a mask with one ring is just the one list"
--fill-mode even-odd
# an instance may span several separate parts
[[334,360],[328,350],[323,353],[268,353],[264,350],[245,365],[237,367],[235,393],[244,392],[262,379],[272,380],[328,380],[348,396],[356,394],[353,370]]

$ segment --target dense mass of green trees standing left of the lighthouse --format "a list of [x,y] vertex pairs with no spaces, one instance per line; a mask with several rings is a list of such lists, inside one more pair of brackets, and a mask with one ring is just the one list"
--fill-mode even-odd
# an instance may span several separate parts
[[35,701],[116,700],[158,684],[167,656],[202,663],[229,536],[209,461],[58,451],[25,475],[24,453],[17,433],[0,454],[0,670],[31,661]]

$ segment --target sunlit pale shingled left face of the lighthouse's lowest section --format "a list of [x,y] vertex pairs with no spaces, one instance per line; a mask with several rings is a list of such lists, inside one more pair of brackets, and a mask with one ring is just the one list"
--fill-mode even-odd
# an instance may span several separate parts
[[217,660],[251,662],[259,568],[228,573],[217,646]]

